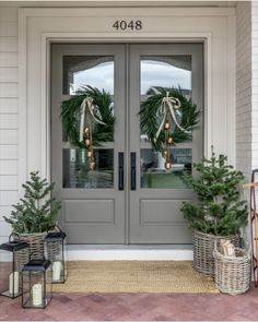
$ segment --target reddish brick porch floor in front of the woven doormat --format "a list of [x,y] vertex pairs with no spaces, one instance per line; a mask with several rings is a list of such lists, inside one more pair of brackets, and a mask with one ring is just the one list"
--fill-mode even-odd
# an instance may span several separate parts
[[258,289],[247,294],[56,294],[45,310],[0,297],[1,321],[233,321],[258,320]]

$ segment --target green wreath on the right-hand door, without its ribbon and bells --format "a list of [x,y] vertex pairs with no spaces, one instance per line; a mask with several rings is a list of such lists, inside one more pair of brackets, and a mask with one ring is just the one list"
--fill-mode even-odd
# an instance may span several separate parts
[[180,119],[179,126],[185,129],[181,131],[175,127],[172,132],[174,143],[184,142],[191,139],[191,131],[198,126],[198,118],[200,111],[191,99],[187,99],[180,88],[168,87],[152,87],[148,91],[146,95],[151,95],[146,100],[141,103],[141,131],[148,135],[151,141],[152,147],[156,152],[162,152],[165,144],[165,131],[162,130],[156,138],[159,131],[159,109],[162,105],[163,98],[168,96],[175,97],[180,102]]

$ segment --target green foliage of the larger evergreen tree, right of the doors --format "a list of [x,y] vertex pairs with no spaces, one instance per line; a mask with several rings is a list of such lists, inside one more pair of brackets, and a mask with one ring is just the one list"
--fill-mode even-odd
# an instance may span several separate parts
[[225,156],[216,158],[212,148],[210,159],[194,164],[199,174],[197,178],[186,176],[198,201],[184,202],[181,211],[190,226],[204,234],[235,235],[247,224],[247,204],[239,200],[238,191],[244,175],[226,165],[226,159]]

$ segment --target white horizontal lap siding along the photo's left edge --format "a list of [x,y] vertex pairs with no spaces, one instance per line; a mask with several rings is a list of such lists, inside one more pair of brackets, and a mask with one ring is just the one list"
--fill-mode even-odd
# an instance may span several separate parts
[[17,202],[17,9],[0,9],[0,243],[11,227],[3,220]]

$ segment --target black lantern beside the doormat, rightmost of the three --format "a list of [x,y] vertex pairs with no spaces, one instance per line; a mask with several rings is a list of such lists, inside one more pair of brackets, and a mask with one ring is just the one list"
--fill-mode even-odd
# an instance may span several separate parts
[[67,279],[67,235],[59,231],[48,232],[44,239],[45,257],[52,263],[52,283]]

